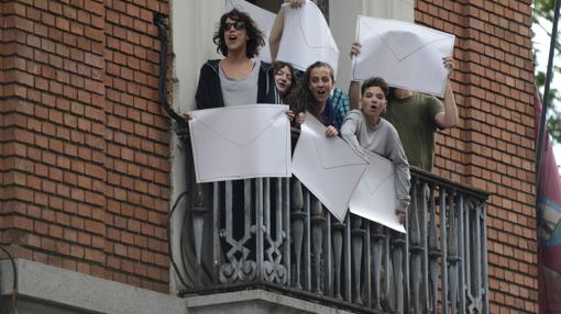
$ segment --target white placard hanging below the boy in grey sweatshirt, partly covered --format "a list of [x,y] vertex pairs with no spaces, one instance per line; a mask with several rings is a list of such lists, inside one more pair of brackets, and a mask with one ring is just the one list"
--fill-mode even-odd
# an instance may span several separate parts
[[405,233],[395,213],[394,165],[378,155],[364,153],[370,165],[351,197],[351,213]]

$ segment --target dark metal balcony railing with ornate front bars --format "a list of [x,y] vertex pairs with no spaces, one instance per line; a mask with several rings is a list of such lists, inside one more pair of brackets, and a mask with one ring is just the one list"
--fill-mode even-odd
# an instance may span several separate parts
[[487,193],[411,177],[406,235],[352,214],[340,223],[294,178],[187,182],[169,235],[179,294],[258,289],[358,313],[490,313]]

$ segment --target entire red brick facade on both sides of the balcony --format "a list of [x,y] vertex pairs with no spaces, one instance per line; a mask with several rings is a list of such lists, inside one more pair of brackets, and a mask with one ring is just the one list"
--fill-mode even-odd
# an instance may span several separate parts
[[[183,0],[182,0],[183,1]],[[338,0],[339,1],[339,0]],[[537,313],[529,1],[416,1],[457,35],[436,172],[490,198],[491,313]],[[0,229],[18,257],[168,290],[157,0],[0,2]]]

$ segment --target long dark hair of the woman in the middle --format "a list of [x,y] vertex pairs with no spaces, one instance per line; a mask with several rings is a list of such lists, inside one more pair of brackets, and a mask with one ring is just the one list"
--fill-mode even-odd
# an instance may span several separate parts
[[334,82],[334,76],[333,76],[333,68],[322,61],[316,61],[315,64],[310,65],[306,71],[304,72],[302,77],[298,80],[298,86],[296,89],[290,93],[288,97],[288,103],[290,104],[290,109],[294,110],[296,113],[308,111],[314,116],[322,121],[321,119],[321,112],[319,111],[319,102],[316,100],[314,94],[310,91],[309,83],[310,83],[310,76],[311,70],[315,68],[322,68],[326,67],[329,69],[329,76],[331,77],[331,80]]

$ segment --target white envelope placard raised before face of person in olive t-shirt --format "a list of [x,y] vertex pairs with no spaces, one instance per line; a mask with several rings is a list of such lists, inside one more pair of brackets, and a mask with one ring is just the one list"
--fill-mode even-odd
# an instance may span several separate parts
[[438,97],[444,94],[454,36],[408,22],[359,16],[356,40],[361,54],[353,58],[353,79],[382,77],[389,86]]

